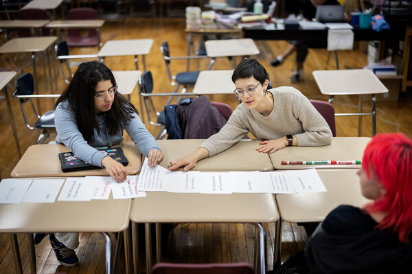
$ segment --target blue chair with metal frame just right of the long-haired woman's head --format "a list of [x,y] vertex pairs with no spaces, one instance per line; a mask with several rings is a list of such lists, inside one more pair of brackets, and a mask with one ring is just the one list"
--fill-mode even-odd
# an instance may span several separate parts
[[[150,71],[145,71],[140,79],[139,79],[139,96],[140,96],[140,116],[141,121],[144,122],[144,110],[143,105],[146,110],[146,115],[148,116],[148,121],[150,125],[154,125],[156,127],[161,127],[160,133],[157,136],[157,139],[161,139],[165,136],[165,112],[162,110],[158,112],[155,109],[155,104],[152,101],[153,96],[159,97],[170,97],[168,103],[170,103],[172,97],[179,96],[181,97],[181,93],[153,93],[153,77]],[[185,96],[196,96],[194,93],[185,93]],[[168,105],[168,103],[166,105]],[[150,104],[150,105],[149,105]],[[154,114],[157,116],[157,120],[152,121],[150,116]]]

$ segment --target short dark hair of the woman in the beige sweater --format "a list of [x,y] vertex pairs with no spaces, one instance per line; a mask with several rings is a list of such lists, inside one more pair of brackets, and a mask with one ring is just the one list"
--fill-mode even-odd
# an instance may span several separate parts
[[249,79],[252,76],[263,84],[268,78],[268,73],[258,60],[246,58],[236,66],[235,71],[233,71],[232,81],[234,83],[237,79]]

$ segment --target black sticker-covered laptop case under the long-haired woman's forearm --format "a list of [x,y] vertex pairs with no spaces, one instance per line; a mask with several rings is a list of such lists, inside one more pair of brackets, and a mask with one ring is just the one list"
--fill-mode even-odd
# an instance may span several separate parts
[[[123,164],[128,165],[128,160],[123,153],[122,147],[111,147],[108,149],[99,149],[102,153],[109,155],[112,159]],[[62,152],[58,153],[58,160],[62,166],[62,171],[84,171],[86,169],[100,169],[100,166],[93,166],[83,160],[77,158],[73,152]]]

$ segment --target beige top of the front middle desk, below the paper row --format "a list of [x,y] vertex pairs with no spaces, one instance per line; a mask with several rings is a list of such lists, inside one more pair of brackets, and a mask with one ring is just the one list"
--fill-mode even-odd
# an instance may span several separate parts
[[262,194],[199,194],[146,192],[133,200],[130,219],[136,223],[234,222],[269,223],[279,219],[275,200]]

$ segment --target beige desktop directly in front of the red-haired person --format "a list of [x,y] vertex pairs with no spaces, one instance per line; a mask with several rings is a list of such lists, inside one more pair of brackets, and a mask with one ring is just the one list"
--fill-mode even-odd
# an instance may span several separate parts
[[279,213],[288,222],[320,222],[339,205],[362,206],[368,199],[361,195],[356,170],[318,170],[327,192],[277,194]]

